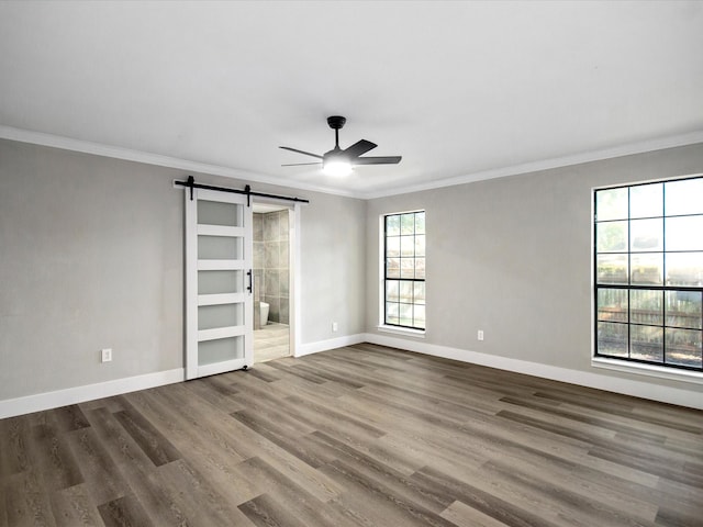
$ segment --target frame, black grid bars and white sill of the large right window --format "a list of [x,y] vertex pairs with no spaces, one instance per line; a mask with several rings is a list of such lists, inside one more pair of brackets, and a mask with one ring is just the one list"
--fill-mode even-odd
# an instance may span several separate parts
[[[591,236],[592,236],[592,258],[591,258],[591,265],[593,267],[592,269],[592,310],[591,310],[591,316],[592,316],[592,366],[594,367],[601,367],[601,368],[609,368],[609,369],[615,369],[615,370],[620,370],[620,371],[628,371],[628,372],[634,372],[634,373],[641,373],[641,374],[646,374],[646,375],[655,375],[655,377],[660,377],[660,378],[669,378],[669,379],[677,379],[677,380],[684,380],[684,381],[690,381],[690,382],[696,382],[696,383],[702,383],[703,382],[703,358],[700,362],[700,366],[687,366],[683,363],[677,363],[677,362],[668,362],[667,361],[667,330],[676,330],[676,329],[685,329],[685,330],[698,330],[699,332],[699,338],[698,338],[698,343],[699,343],[699,350],[701,352],[701,355],[703,355],[703,343],[701,343],[701,340],[703,339],[703,310],[700,318],[701,321],[699,322],[699,326],[700,327],[689,327],[689,326],[679,326],[676,325],[673,323],[669,323],[668,322],[668,317],[670,316],[676,316],[676,315],[669,315],[667,313],[667,299],[669,295],[669,292],[673,292],[673,293],[689,293],[689,292],[693,292],[695,294],[701,295],[700,298],[703,298],[703,283],[699,283],[698,285],[682,285],[682,284],[669,284],[668,283],[668,277],[667,277],[667,262],[669,261],[667,256],[671,255],[671,254],[682,254],[682,253],[703,253],[703,248],[695,248],[695,249],[685,249],[685,250],[677,250],[677,249],[670,249],[668,250],[668,244],[667,244],[667,220],[671,220],[671,218],[678,218],[678,217],[691,217],[691,216],[701,216],[703,215],[703,206],[701,208],[700,211],[696,212],[692,212],[692,213],[685,213],[685,214],[668,214],[667,211],[667,198],[666,198],[666,189],[667,189],[667,183],[674,183],[674,182],[679,182],[679,181],[685,181],[685,180],[703,180],[703,175],[691,175],[691,176],[685,176],[685,177],[679,177],[679,178],[667,178],[667,179],[659,179],[659,180],[650,180],[650,181],[640,181],[640,182],[633,182],[633,183],[622,183],[622,184],[614,184],[614,186],[607,186],[607,187],[599,187],[599,188],[593,188],[592,189],[592,195],[591,195],[591,205],[592,205],[592,215],[591,215]],[[632,210],[632,189],[638,188],[638,187],[645,187],[645,186],[654,186],[654,184],[661,184],[661,212],[660,214],[652,214],[652,215],[637,215],[637,214],[633,214],[633,210]],[[625,218],[602,218],[599,221],[598,218],[598,195],[599,192],[601,191],[607,191],[607,190],[616,190],[616,189],[627,189],[627,216]],[[660,284],[654,284],[654,283],[633,283],[633,268],[632,268],[632,262],[633,262],[633,255],[635,256],[639,256],[639,255],[646,255],[647,251],[643,251],[634,249],[633,248],[633,238],[631,236],[632,234],[632,227],[633,227],[633,221],[639,221],[639,220],[660,220],[661,221],[661,248],[657,249],[650,254],[652,255],[661,255],[661,283]],[[604,226],[606,223],[609,222],[626,222],[626,238],[625,238],[625,249],[624,250],[601,250],[599,253],[599,238],[598,238],[598,228],[599,225]],[[616,282],[604,282],[601,281],[599,282],[599,255],[626,255],[626,260],[627,260],[627,267],[626,267],[626,273],[627,273],[627,279],[626,279],[626,283],[616,283]],[[606,354],[606,352],[601,352],[601,350],[599,350],[599,325],[601,322],[604,322],[603,319],[601,319],[600,316],[600,306],[599,306],[599,291],[601,290],[611,290],[611,291],[615,291],[615,290],[621,290],[621,291],[625,291],[625,295],[627,296],[627,303],[625,304],[625,314],[626,314],[626,319],[625,321],[612,321],[616,324],[620,324],[624,327],[626,327],[626,340],[625,340],[625,349],[627,351],[627,356],[616,356],[616,355],[612,355],[612,354]],[[661,323],[652,323],[652,322],[640,322],[640,321],[636,321],[633,319],[633,307],[631,304],[631,300],[633,298],[632,292],[633,291],[650,291],[650,292],[657,292],[660,291],[661,295],[660,295],[660,303],[661,303]],[[612,325],[612,324],[611,324]],[[638,358],[638,357],[632,357],[633,355],[633,345],[632,345],[632,335],[633,335],[633,327],[637,328],[660,328],[661,330],[661,358],[660,360],[646,360],[644,358]],[[639,329],[637,329],[639,330]]]

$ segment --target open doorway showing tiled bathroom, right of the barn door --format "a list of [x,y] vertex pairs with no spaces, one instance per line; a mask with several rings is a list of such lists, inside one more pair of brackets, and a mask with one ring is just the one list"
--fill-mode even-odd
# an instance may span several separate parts
[[254,362],[289,357],[293,312],[294,209],[253,203]]

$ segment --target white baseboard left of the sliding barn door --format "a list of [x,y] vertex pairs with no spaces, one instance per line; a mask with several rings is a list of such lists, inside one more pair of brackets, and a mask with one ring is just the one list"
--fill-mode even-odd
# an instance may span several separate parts
[[165,384],[182,382],[185,379],[186,370],[183,370],[183,368],[177,368],[175,370],[157,371],[155,373],[115,379],[97,384],[68,388],[55,392],[8,399],[0,401],[0,419],[15,415],[31,414],[32,412],[40,412],[42,410],[58,408],[68,404],[82,403],[94,399],[135,392],[137,390],[163,386]]

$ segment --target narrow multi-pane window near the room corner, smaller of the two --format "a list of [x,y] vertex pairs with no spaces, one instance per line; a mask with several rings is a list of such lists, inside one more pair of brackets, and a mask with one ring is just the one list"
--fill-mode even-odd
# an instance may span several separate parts
[[425,329],[425,211],[383,216],[383,324]]

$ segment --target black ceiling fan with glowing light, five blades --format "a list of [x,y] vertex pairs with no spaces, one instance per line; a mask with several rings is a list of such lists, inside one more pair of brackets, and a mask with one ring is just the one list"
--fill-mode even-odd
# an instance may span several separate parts
[[360,157],[362,154],[376,148],[378,145],[370,141],[360,139],[355,144],[345,148],[339,148],[339,130],[346,123],[346,117],[342,115],[332,115],[327,117],[327,124],[334,130],[334,148],[324,155],[312,154],[310,152],[299,150],[289,146],[281,146],[284,150],[295,152],[305,156],[312,156],[320,159],[317,162],[293,162],[282,165],[283,167],[295,167],[301,165],[320,165],[322,169],[330,176],[347,176],[352,172],[352,167],[357,165],[397,165],[402,159],[401,156],[382,156],[382,157]]

